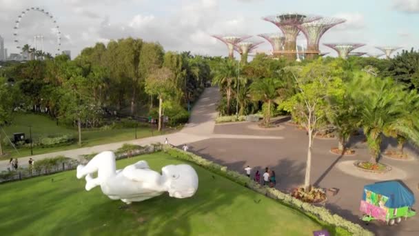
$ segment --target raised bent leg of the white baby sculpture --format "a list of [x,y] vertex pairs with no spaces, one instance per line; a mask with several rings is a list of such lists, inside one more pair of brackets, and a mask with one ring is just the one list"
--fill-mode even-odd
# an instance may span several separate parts
[[94,156],[87,165],[77,166],[77,178],[81,179],[88,174],[98,173],[98,177],[106,175],[115,175],[116,164],[115,155],[112,152],[105,151]]

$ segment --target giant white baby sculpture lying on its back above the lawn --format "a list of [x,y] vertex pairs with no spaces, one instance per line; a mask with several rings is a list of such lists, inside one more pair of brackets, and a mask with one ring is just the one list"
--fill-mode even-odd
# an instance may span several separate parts
[[[97,172],[97,177],[92,176]],[[198,175],[189,165],[169,165],[161,175],[148,167],[147,161],[116,170],[115,155],[110,151],[99,153],[85,166],[77,166],[77,178],[85,176],[86,190],[101,186],[110,199],[131,204],[169,192],[170,197],[192,197],[198,189]]]

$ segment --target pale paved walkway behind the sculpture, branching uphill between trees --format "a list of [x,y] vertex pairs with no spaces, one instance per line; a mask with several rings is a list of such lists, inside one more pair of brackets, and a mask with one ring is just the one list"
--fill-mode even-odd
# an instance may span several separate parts
[[[206,88],[199,100],[196,102],[191,112],[191,117],[188,123],[180,132],[175,132],[170,135],[159,135],[154,137],[147,137],[144,139],[134,139],[130,141],[120,141],[112,144],[102,144],[98,146],[77,148],[71,150],[63,150],[55,153],[46,153],[41,155],[30,156],[35,161],[48,157],[57,157],[63,155],[73,159],[79,159],[81,155],[100,153],[105,150],[116,150],[121,148],[123,144],[137,144],[145,146],[169,140],[169,143],[174,146],[181,146],[183,144],[190,144],[192,142],[201,141],[204,139],[282,139],[278,136],[254,136],[254,135],[228,135],[228,134],[214,134],[215,118],[217,115],[216,104],[218,103],[219,92],[218,88]],[[30,157],[19,158],[19,166],[28,166]],[[8,167],[8,160],[0,161],[0,170],[6,170]]]

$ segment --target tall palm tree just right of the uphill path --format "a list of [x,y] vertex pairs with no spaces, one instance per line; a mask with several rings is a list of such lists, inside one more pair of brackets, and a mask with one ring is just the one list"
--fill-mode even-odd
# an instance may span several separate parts
[[217,85],[220,89],[225,91],[227,97],[227,115],[230,115],[230,102],[232,99],[232,88],[234,79],[237,78],[237,62],[232,59],[227,59],[218,68],[216,75],[212,81],[213,85]]

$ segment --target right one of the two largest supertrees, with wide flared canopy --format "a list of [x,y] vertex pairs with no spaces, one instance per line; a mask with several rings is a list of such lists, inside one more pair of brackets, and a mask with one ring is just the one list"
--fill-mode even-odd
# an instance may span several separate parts
[[297,25],[297,28],[301,30],[307,38],[307,51],[305,52],[306,57],[316,57],[319,53],[318,43],[320,43],[320,38],[327,30],[345,21],[345,19],[325,17],[316,21]]

